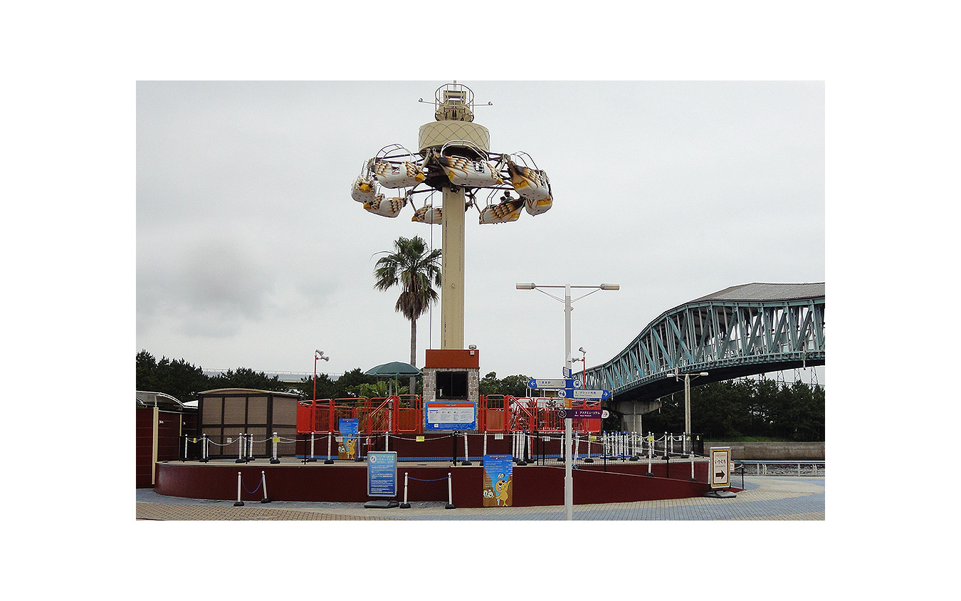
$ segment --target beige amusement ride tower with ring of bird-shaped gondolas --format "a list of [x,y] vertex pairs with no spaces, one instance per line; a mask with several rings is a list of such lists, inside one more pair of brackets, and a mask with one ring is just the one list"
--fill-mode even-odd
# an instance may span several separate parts
[[[412,221],[441,225],[441,348],[463,349],[465,213],[473,207],[481,224],[507,223],[523,211],[548,211],[553,199],[547,174],[527,153],[490,151],[490,132],[474,123],[470,88],[456,82],[441,86],[433,105],[434,121],[421,126],[417,152],[400,144],[384,146],[364,163],[351,195],[369,213],[396,217],[410,204]],[[398,195],[387,198],[382,188],[396,189]],[[440,207],[429,202],[436,191]],[[428,196],[418,206],[420,193]]]

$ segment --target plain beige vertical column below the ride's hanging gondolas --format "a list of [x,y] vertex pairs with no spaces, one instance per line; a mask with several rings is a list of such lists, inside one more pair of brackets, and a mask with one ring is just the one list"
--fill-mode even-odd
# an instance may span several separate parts
[[[456,190],[456,191],[455,191]],[[440,348],[464,348],[464,188],[444,187]]]

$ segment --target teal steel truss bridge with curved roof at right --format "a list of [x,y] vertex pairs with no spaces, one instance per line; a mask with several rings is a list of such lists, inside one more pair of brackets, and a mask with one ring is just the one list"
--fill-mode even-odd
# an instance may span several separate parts
[[680,305],[654,319],[616,357],[590,367],[584,388],[617,405],[653,401],[697,384],[825,364],[825,284],[745,284]]

